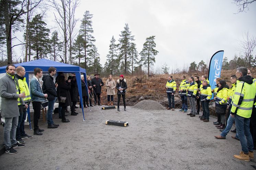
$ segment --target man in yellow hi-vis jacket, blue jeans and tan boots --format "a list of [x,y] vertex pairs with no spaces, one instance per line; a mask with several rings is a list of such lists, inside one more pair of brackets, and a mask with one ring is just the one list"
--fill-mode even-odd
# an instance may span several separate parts
[[254,159],[253,139],[249,124],[253,105],[256,102],[256,87],[251,76],[247,75],[247,68],[236,69],[236,88],[232,98],[230,116],[235,117],[236,133],[240,139],[242,151],[234,158],[249,162]]

